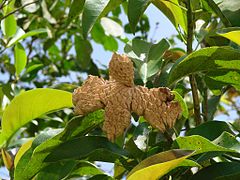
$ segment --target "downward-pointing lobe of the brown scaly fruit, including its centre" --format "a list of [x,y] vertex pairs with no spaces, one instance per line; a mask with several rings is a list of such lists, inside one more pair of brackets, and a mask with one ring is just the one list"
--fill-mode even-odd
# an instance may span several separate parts
[[126,87],[118,82],[108,82],[105,89],[105,121],[103,130],[107,133],[109,140],[114,140],[123,134],[130,124],[132,88]]

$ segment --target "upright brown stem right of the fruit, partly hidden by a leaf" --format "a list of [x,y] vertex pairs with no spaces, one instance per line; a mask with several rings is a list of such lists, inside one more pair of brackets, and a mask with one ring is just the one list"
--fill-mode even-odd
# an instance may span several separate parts
[[[188,22],[188,33],[187,33],[187,54],[191,54],[192,43],[193,43],[193,29],[194,29],[194,21],[193,21],[193,12],[191,9],[191,0],[187,0],[186,3],[187,7],[187,22]],[[193,74],[189,75],[192,96],[193,96],[193,105],[194,105],[194,119],[196,125],[201,124],[201,113],[200,113],[200,101],[198,97],[198,90],[197,90],[197,82],[195,76]]]

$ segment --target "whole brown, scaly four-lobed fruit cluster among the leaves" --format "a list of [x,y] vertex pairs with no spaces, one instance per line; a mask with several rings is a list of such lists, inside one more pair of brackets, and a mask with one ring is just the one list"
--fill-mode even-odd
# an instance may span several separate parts
[[174,95],[166,87],[148,89],[134,85],[132,61],[125,55],[113,54],[109,80],[96,76],[88,79],[73,93],[75,113],[85,115],[105,109],[103,130],[110,140],[129,126],[131,113],[143,116],[153,127],[164,132],[173,127],[181,113]]

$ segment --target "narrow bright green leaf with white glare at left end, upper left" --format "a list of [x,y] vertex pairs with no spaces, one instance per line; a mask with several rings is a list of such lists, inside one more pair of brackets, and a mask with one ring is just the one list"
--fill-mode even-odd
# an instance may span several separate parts
[[36,36],[38,34],[41,34],[41,33],[46,33],[47,30],[46,29],[35,29],[35,30],[32,30],[32,31],[29,31],[27,33],[25,33],[23,30],[21,29],[18,29],[17,33],[15,34],[15,36],[8,42],[7,44],[7,47],[11,47],[12,45],[18,43],[20,40],[22,39],[26,39],[27,37],[30,37],[30,36]]

